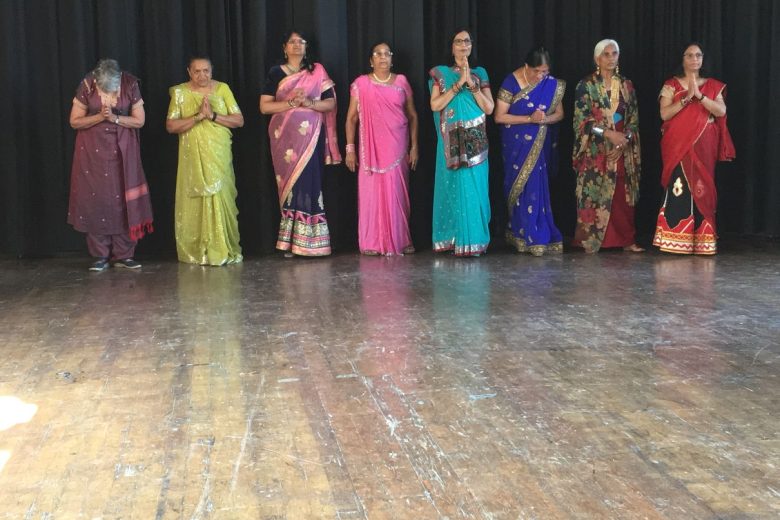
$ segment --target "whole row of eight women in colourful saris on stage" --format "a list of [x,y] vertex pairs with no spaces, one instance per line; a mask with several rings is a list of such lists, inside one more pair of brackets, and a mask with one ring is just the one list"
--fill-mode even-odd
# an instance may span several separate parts
[[[485,69],[470,64],[471,33],[451,40],[452,62],[430,70],[430,106],[438,144],[433,196],[433,248],[479,256],[490,242],[486,118],[501,127],[506,239],[539,256],[563,251],[548,175],[557,163],[557,125],[566,84],[550,75],[543,48],[528,53],[494,101]],[[322,192],[324,166],[339,163],[334,82],[312,61],[298,31],[285,35],[284,60],[260,95],[270,115],[268,135],[277,182],[280,225],[276,247],[287,256],[330,254]],[[602,40],[595,71],[576,87],[573,166],[577,225],[573,244],[587,252],[635,242],[641,149],[637,99],[619,70],[620,49]],[[716,251],[714,167],[734,157],[726,128],[725,85],[700,75],[703,53],[686,47],[682,69],[659,95],[664,121],[662,184],[666,196],[653,244],[663,251]],[[411,87],[393,72],[387,42],[370,49],[372,71],[350,87],[345,162],[358,173],[358,241],[365,255],[414,252],[409,232],[410,170],[419,157]],[[190,81],[171,87],[166,128],[179,135],[176,243],[179,259],[202,265],[240,262],[231,129],[244,119],[230,88],[211,77],[211,62],[193,58]],[[137,268],[133,250],[152,228],[138,129],[144,124],[137,80],[103,60],[81,83],[71,125],[78,130],[68,221],[87,233],[91,269],[111,263]],[[92,149],[95,152],[92,152]]]

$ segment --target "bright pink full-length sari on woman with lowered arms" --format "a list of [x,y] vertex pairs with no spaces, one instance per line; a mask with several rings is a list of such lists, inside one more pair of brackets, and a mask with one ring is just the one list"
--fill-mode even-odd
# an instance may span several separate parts
[[[358,100],[358,244],[361,252],[400,255],[409,233],[409,121],[412,88],[398,74],[392,83],[360,76],[350,88]],[[412,248],[413,249],[413,248]]]

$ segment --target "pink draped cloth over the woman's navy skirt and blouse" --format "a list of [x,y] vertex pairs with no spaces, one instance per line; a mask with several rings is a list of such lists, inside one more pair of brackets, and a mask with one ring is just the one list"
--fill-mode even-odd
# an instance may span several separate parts
[[[300,89],[306,97],[319,100],[322,93],[334,85],[325,68],[315,63],[312,72],[303,70],[284,78],[279,83],[275,97],[277,101],[286,101],[294,98],[295,90]],[[336,140],[336,110],[322,114],[301,107],[271,117],[268,132],[280,205],[284,204],[298,177],[311,160],[323,130],[323,123],[326,132],[325,164],[338,164],[341,162],[341,153]]]

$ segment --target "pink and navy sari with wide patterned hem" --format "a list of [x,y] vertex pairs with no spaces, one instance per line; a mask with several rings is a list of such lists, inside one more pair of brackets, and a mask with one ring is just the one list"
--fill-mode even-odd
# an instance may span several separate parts
[[[274,69],[269,76],[273,75]],[[311,72],[304,69],[282,77],[273,95],[276,101],[286,101],[302,90],[306,97],[320,100],[334,86],[325,68],[315,63]],[[341,162],[336,110],[323,114],[297,107],[274,114],[268,134],[281,210],[276,248],[302,256],[329,255],[322,174],[325,164]]]

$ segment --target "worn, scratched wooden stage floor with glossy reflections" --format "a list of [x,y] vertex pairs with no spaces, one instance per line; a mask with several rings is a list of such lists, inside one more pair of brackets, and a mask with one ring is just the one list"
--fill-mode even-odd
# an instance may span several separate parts
[[0,518],[780,517],[780,245],[0,261]]

